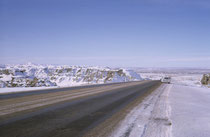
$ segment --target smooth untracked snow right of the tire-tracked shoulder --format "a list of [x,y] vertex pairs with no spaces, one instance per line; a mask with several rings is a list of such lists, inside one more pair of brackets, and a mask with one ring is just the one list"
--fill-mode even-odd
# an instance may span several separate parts
[[169,96],[173,137],[210,137],[210,89],[174,85]]

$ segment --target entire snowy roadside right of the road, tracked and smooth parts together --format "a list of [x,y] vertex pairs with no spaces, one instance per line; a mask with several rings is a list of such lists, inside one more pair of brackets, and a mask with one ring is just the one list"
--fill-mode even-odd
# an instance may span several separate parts
[[112,137],[210,137],[210,89],[162,84],[118,125]]

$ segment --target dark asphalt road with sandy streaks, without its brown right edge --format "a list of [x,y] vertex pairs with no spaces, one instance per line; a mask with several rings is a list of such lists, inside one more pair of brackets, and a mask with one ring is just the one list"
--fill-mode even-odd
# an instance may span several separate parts
[[158,85],[144,81],[4,95],[0,137],[83,136]]

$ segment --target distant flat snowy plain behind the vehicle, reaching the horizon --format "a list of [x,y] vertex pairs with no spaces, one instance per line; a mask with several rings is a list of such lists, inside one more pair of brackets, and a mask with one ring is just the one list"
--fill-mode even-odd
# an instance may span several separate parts
[[[131,69],[131,68],[130,68]],[[160,80],[164,76],[172,78],[171,83],[201,87],[203,74],[209,74],[210,68],[132,68],[144,79]]]

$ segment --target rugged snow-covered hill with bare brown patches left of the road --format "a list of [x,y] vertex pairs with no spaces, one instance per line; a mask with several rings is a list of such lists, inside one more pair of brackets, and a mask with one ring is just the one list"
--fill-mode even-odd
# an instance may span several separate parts
[[132,70],[53,65],[2,65],[0,87],[75,86],[142,80]]

